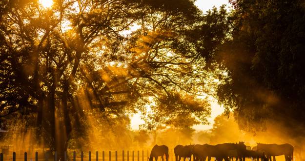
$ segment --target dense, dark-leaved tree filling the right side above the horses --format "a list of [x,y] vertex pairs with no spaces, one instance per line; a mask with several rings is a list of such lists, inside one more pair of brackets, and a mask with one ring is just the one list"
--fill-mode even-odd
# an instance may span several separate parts
[[291,136],[304,136],[304,1],[231,1],[231,35],[217,57],[227,70],[220,103],[245,129],[271,120]]

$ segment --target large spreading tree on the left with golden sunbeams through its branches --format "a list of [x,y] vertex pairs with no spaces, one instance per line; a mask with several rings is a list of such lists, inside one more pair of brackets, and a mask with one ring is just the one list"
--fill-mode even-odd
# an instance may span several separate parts
[[[86,135],[88,114],[146,115],[153,101],[153,122],[206,123],[209,104],[196,96],[209,93],[212,76],[208,57],[199,56],[217,45],[202,50],[190,35],[217,28],[206,19],[216,10],[204,17],[192,0],[54,0],[50,8],[1,0],[0,7],[0,117],[30,117],[26,128],[61,157],[71,137]],[[221,42],[206,33],[201,42]]]

